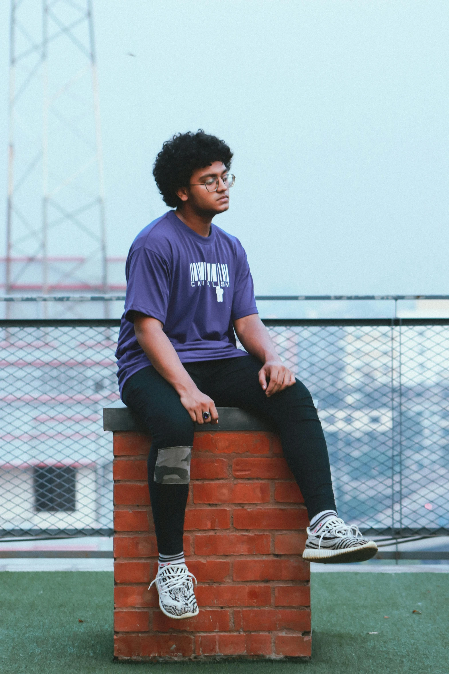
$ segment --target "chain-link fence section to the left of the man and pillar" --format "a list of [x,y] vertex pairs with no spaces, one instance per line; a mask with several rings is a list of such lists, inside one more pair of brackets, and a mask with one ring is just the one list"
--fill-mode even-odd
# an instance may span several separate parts
[[1,321],[0,531],[112,530],[118,321]]

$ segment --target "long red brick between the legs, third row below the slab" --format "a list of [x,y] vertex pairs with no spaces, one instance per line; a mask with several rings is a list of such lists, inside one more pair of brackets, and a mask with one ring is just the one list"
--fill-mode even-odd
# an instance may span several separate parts
[[194,503],[269,503],[268,482],[203,482],[193,485]]

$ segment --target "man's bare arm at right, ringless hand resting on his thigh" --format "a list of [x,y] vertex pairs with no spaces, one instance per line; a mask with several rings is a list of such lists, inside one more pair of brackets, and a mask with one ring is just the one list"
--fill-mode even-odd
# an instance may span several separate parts
[[[234,321],[234,330],[248,353],[264,363],[259,370],[258,380],[268,398],[295,384],[295,375],[282,365],[269,332],[258,314],[252,313],[238,318]],[[269,379],[268,386],[267,379]]]

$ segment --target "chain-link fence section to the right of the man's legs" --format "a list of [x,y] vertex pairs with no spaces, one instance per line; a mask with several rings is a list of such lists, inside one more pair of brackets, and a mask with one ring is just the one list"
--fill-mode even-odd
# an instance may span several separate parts
[[265,322],[318,400],[341,516],[371,535],[447,534],[448,319]]

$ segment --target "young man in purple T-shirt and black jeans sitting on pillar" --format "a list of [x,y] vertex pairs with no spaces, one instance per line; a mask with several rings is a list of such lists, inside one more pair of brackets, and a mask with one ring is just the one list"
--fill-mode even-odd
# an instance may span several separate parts
[[[170,210],[129,251],[116,357],[123,402],[151,433],[148,485],[159,549],[153,580],[169,617],[197,615],[182,535],[194,423],[217,406],[271,419],[310,518],[304,559],[361,561],[377,551],[337,516],[326,441],[310,393],[258,317],[240,241],[212,223],[229,208],[230,148],[199,130],[164,143],[153,175]],[[236,348],[234,330],[246,351]]]

